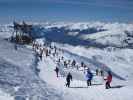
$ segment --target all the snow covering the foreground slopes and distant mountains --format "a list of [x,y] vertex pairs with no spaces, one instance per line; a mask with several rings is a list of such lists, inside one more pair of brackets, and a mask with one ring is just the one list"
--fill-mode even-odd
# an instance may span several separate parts
[[[35,25],[37,25],[35,23]],[[66,29],[87,29],[95,27],[106,29],[105,31],[93,34],[78,34],[69,32],[68,35],[83,40],[93,39],[102,44],[122,45],[126,39],[125,30],[132,32],[133,24],[124,23],[39,23],[46,29],[52,27],[65,27]],[[45,57],[39,60],[31,45],[17,45],[7,41],[11,36],[10,25],[0,27],[0,100],[14,100],[15,98],[26,100],[132,100],[133,98],[133,50],[130,48],[107,47],[104,49],[82,45],[73,46],[53,42],[61,50],[58,55]],[[42,32],[43,33],[43,32]],[[66,33],[65,33],[66,34]],[[38,44],[43,45],[44,38],[37,39]],[[131,41],[132,43],[132,41]],[[48,48],[49,49],[49,48]],[[54,52],[54,51],[52,51]],[[85,73],[86,69],[63,66],[63,60],[57,60],[63,56],[66,60],[81,61],[89,67],[94,78],[92,86],[87,87]],[[59,77],[56,77],[55,67],[60,70]],[[113,81],[111,89],[105,89],[104,77],[96,76],[95,69],[103,69],[105,72],[111,70]],[[37,69],[40,72],[37,72]],[[72,73],[73,80],[70,88],[65,87],[66,75]],[[106,74],[105,74],[106,77]]]

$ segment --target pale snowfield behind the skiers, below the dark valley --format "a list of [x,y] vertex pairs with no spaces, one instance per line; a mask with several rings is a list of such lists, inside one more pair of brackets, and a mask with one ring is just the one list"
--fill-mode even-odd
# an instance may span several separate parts
[[[84,48],[81,46],[70,46],[70,45],[61,45],[58,44],[58,47],[61,47],[71,53],[77,54],[79,56],[86,57],[90,60],[95,60],[104,65],[107,65],[115,73],[119,73],[120,76],[124,78],[131,78],[133,73],[133,50],[132,49],[119,49],[119,48],[105,48],[104,50],[97,48]],[[128,53],[127,53],[128,52]],[[79,61],[82,59],[79,58]],[[84,61],[84,60],[83,60]],[[88,65],[90,66],[90,65]],[[91,65],[92,66],[92,65]],[[115,67],[116,66],[116,67]],[[101,66],[102,67],[102,66]],[[127,71],[128,70],[128,71]]]

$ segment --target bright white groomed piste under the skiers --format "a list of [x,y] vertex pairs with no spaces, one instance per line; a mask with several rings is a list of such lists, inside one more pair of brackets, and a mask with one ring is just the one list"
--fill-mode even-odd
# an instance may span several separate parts
[[[131,83],[127,84],[126,81],[122,81],[115,77],[113,78],[113,82],[111,84],[112,88],[109,90],[105,89],[105,82],[100,76],[94,76],[93,85],[87,87],[83,71],[75,72],[75,69],[65,70],[62,65],[58,65],[60,69],[60,76],[57,78],[54,72],[54,69],[57,66],[56,61],[57,57],[44,57],[38,64],[41,70],[39,76],[46,83],[62,91],[62,94],[66,96],[69,94],[70,98],[73,100],[131,100],[133,97],[133,86]],[[70,88],[65,87],[65,78],[68,72],[71,72],[74,76]]]

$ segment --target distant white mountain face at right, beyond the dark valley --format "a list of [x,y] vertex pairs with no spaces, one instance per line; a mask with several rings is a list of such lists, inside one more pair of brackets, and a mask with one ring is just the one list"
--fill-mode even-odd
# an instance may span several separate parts
[[[115,45],[119,47],[132,46],[133,25],[132,24],[105,24],[105,32],[97,32],[91,35],[82,35],[83,39],[94,39],[98,43]],[[130,34],[130,35],[128,35]]]

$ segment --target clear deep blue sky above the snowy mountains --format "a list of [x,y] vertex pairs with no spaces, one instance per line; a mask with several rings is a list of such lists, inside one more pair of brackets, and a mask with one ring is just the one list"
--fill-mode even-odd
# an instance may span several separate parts
[[133,0],[0,0],[0,22],[133,22]]

